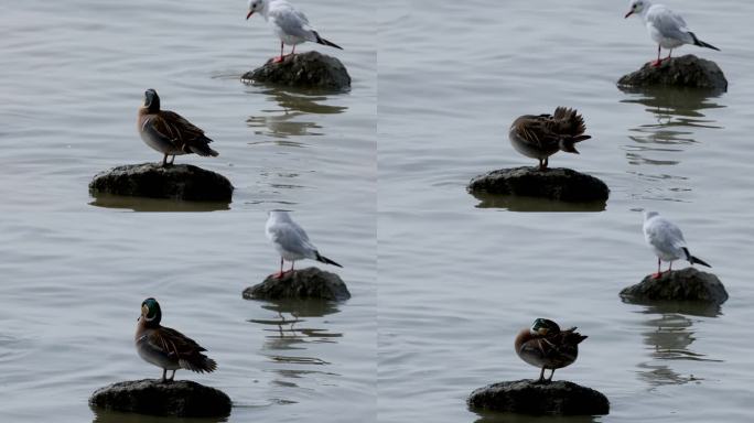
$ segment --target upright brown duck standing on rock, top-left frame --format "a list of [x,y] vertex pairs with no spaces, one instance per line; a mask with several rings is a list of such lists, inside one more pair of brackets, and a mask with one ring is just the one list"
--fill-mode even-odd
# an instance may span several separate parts
[[[144,102],[137,115],[137,129],[147,145],[164,154],[163,166],[173,164],[176,155],[218,155],[209,148],[212,139],[203,130],[174,111],[160,109],[160,96],[152,88],[144,91]],[[172,155],[170,162],[169,155]]]

